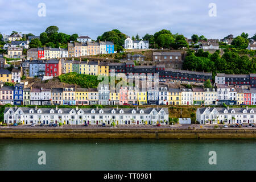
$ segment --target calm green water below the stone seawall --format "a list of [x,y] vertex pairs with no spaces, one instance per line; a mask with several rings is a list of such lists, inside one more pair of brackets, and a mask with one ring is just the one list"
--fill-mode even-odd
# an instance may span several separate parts
[[0,139],[0,170],[256,170],[255,154],[255,140]]

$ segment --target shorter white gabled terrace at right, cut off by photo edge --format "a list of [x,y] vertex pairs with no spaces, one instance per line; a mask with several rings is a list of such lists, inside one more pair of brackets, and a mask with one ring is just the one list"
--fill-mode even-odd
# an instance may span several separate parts
[[200,124],[255,123],[255,111],[248,107],[204,107],[196,110],[196,121]]

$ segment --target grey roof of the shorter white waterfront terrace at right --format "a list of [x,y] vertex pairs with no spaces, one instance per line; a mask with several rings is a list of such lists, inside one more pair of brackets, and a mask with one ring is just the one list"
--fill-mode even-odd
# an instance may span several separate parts
[[[251,110],[254,110],[254,112],[256,111],[256,108],[246,108],[246,107],[228,107],[228,108],[225,108],[225,107],[203,107],[203,108],[198,108],[200,114],[203,114],[204,111],[206,109],[209,109],[210,112],[212,112],[213,109],[216,109],[218,111],[218,113],[224,113],[225,110],[228,110],[228,113],[227,114],[234,114],[234,113],[231,113],[232,110],[235,111],[236,114],[242,114],[243,113],[243,110],[246,110],[247,113],[250,114],[250,111]],[[226,114],[226,113],[225,113]]]

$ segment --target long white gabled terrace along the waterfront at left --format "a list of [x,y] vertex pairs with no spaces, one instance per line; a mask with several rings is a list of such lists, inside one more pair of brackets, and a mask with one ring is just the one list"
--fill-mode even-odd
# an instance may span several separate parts
[[104,108],[104,109],[79,109],[72,108],[29,108],[6,107],[4,111],[5,123],[63,123],[64,125],[143,125],[143,124],[168,124],[168,108]]

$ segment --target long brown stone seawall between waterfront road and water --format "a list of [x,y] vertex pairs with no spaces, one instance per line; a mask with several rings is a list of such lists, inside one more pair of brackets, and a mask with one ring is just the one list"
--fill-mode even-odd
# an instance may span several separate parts
[[256,139],[254,129],[0,129],[0,139]]

